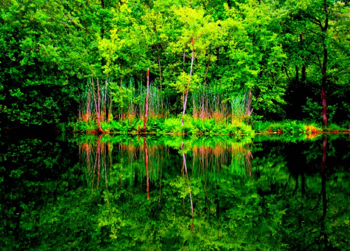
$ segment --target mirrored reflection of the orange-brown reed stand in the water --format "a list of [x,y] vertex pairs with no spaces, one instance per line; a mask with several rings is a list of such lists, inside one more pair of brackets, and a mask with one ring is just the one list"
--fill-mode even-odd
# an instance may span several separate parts
[[[167,145],[169,140],[170,146]],[[107,187],[110,171],[113,168],[121,168],[123,173],[120,176],[120,186],[123,186],[123,181],[126,179],[129,179],[129,182],[137,182],[135,179],[143,179],[146,174],[146,192],[149,199],[150,179],[153,183],[160,181],[163,168],[169,168],[169,163],[172,163],[170,167],[172,170],[176,169],[177,172],[182,170],[181,173],[188,179],[186,156],[187,160],[191,160],[191,175],[203,179],[205,183],[215,183],[220,180],[220,175],[227,173],[251,177],[253,159],[251,145],[251,140],[211,145],[202,141],[180,140],[176,146],[174,141],[168,139],[168,142],[163,144],[151,141],[151,145],[148,146],[145,136],[112,143],[100,135],[79,143],[79,159],[82,169],[86,171],[91,190],[98,190],[100,175],[104,176]]]

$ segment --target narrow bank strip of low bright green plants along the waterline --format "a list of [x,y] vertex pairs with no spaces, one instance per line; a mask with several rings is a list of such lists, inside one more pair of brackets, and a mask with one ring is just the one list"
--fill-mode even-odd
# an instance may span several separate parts
[[[146,131],[142,119],[126,119],[122,121],[101,122],[104,134],[180,134],[180,135],[254,135],[271,133],[317,134],[317,133],[349,133],[337,124],[324,127],[320,122],[309,120],[255,121],[253,123],[215,121],[215,119],[193,119],[185,117],[181,126],[180,117],[150,118]],[[78,134],[96,134],[97,124],[93,121],[77,121],[73,124],[60,124],[59,131],[71,131]]]

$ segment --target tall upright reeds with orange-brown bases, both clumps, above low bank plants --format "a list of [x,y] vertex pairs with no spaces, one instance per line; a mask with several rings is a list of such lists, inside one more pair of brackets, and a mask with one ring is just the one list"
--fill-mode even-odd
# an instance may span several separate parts
[[[146,86],[141,83],[136,85],[133,80],[120,85],[114,84],[112,79],[108,78],[97,88],[91,77],[80,98],[79,120],[92,124],[91,122],[117,119],[133,124],[146,115],[147,93],[148,118],[166,119],[170,117],[170,110],[174,105],[165,96],[166,92],[157,81],[150,82],[147,92]],[[233,126],[243,122],[249,123],[253,111],[251,91],[227,92],[216,81],[212,81],[192,91],[191,95],[194,119],[214,119],[223,124],[231,123]],[[137,121],[134,121],[135,119]]]

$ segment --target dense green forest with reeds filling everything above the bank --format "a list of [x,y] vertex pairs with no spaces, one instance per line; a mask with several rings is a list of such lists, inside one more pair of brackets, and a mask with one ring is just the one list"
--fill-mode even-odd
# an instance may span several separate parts
[[141,118],[146,96],[154,117],[347,128],[349,65],[347,0],[4,0],[0,128]]

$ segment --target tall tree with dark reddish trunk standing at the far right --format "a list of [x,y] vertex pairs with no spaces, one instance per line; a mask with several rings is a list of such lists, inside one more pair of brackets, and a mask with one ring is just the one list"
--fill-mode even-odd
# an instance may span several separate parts
[[[292,27],[286,37],[293,36],[294,41],[299,40],[298,45],[290,51],[289,59],[295,58],[292,53],[299,55],[299,62],[302,62],[303,83],[307,78],[310,82],[319,83],[322,122],[326,126],[328,123],[326,92],[335,77],[332,76],[336,70],[335,65],[339,65],[335,56],[340,54],[349,58],[346,50],[339,50],[344,41],[339,40],[339,33],[336,32],[338,27],[348,23],[348,8],[342,3],[328,0],[297,3],[287,1],[285,6],[290,19],[287,25],[288,28]],[[348,31],[344,30],[342,37],[348,39]],[[306,76],[307,68],[309,76]],[[298,76],[298,68],[295,72]]]

